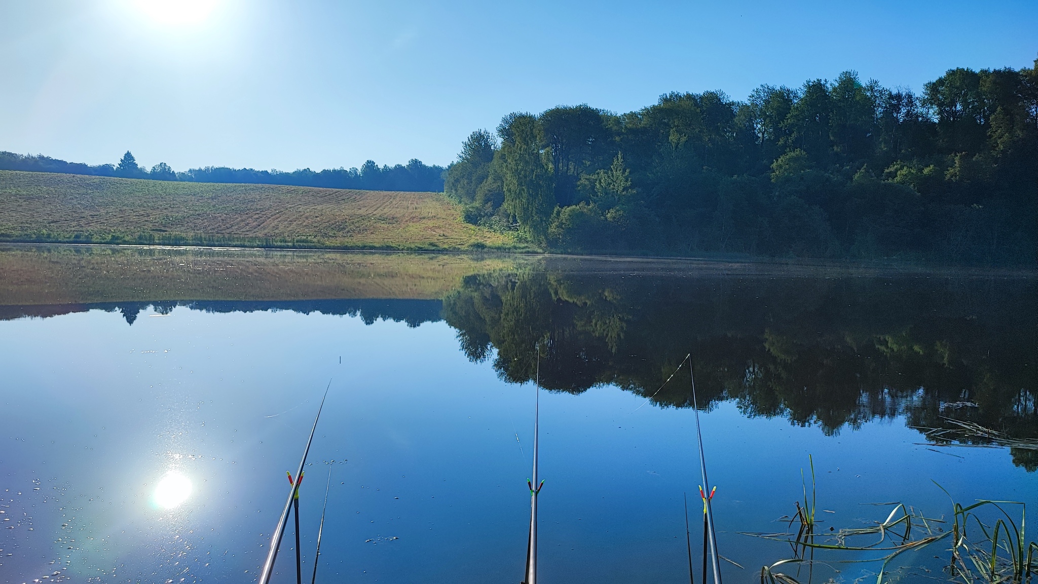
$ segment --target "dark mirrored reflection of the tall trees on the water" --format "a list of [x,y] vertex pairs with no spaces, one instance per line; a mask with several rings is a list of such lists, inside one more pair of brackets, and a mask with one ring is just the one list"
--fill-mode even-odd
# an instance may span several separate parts
[[[493,358],[510,382],[532,379],[532,346],[546,340],[544,388],[613,384],[648,397],[690,352],[704,408],[734,399],[747,416],[826,435],[903,416],[911,426],[954,418],[1038,437],[1032,277],[576,263],[468,276],[444,299],[443,317],[469,359]],[[688,384],[667,384],[653,400],[690,407]],[[1038,469],[1038,451],[1011,453]]]

